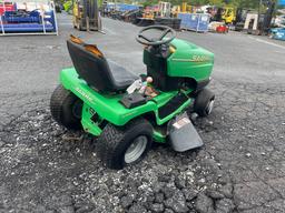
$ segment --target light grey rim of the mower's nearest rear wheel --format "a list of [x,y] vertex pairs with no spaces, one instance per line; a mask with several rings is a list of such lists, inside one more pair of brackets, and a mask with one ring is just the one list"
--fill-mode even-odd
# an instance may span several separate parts
[[137,161],[145,152],[147,148],[147,141],[148,139],[145,135],[136,138],[125,153],[125,162],[129,164]]

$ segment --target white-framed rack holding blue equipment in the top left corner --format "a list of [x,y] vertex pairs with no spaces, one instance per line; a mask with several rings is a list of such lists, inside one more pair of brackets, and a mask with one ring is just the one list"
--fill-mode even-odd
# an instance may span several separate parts
[[51,0],[0,0],[0,36],[58,34]]

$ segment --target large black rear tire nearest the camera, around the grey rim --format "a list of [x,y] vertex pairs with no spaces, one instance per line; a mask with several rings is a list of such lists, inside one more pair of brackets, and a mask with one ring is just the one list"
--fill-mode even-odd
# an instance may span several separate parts
[[[141,155],[131,163],[126,163],[125,154],[136,139],[145,136],[146,146]],[[137,119],[124,128],[108,123],[98,139],[97,151],[105,166],[121,170],[125,165],[139,162],[147,154],[153,144],[153,126],[145,119]]]

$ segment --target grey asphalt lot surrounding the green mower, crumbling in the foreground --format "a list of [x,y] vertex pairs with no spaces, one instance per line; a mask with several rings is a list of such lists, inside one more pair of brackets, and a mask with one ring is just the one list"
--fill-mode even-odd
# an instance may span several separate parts
[[145,72],[140,28],[104,19],[79,32],[59,16],[58,37],[0,38],[0,212],[285,212],[285,43],[238,32],[177,32],[215,53],[214,112],[195,124],[205,146],[155,145],[139,164],[105,169],[96,141],[56,124],[49,99],[72,67],[69,34]]

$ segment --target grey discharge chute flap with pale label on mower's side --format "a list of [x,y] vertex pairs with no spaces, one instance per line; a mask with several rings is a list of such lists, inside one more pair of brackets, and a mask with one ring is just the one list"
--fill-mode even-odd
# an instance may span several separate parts
[[169,139],[176,152],[185,152],[204,145],[202,138],[186,113],[176,116],[168,126]]

